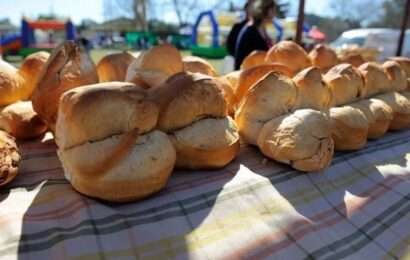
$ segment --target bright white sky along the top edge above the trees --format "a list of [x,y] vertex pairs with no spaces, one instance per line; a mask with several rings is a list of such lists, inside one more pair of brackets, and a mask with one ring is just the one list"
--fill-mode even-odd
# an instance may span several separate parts
[[[212,0],[198,0],[215,2]],[[236,1],[240,2],[240,1]],[[243,2],[243,1],[242,1]],[[297,13],[297,0],[290,0],[290,15]],[[154,0],[155,3],[155,0]],[[175,19],[175,13],[171,8],[156,11],[167,21]],[[314,14],[331,14],[329,0],[307,0],[306,12]],[[0,0],[0,19],[9,18],[13,24],[19,25],[21,17],[37,18],[39,14],[54,13],[63,17],[70,17],[74,23],[80,23],[87,18],[97,22],[104,21],[103,0]]]

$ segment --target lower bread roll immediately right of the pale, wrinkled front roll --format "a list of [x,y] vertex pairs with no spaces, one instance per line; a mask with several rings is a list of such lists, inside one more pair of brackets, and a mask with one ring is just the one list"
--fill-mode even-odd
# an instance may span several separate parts
[[351,106],[333,107],[329,115],[336,151],[359,150],[366,146],[369,122],[362,111]]

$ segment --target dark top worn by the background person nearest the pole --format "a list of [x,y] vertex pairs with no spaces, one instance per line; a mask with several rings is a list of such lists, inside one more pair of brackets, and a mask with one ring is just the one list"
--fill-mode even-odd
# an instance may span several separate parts
[[240,69],[245,57],[255,50],[269,50],[268,42],[261,36],[256,26],[246,25],[239,33],[235,48],[235,70]]

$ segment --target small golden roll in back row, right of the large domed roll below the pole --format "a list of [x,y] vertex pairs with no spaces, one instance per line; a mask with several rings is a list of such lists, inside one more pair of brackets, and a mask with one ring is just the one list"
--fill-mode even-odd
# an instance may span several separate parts
[[309,59],[312,65],[318,67],[322,73],[326,73],[339,63],[336,52],[324,44],[316,45],[309,52]]

